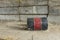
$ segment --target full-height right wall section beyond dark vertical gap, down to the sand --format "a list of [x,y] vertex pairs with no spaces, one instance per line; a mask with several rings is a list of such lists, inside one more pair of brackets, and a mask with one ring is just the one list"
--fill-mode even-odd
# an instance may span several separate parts
[[49,0],[49,22],[60,24],[60,0]]

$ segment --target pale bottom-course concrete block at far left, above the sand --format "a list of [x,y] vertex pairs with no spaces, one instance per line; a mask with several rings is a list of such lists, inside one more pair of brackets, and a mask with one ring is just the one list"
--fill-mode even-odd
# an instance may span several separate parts
[[19,15],[0,15],[0,20],[7,20],[7,21],[18,21],[19,20]]

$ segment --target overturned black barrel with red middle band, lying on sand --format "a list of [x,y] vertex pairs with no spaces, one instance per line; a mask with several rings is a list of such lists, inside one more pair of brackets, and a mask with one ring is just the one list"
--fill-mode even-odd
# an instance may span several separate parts
[[27,27],[30,30],[47,30],[48,20],[46,17],[42,18],[27,18]]

